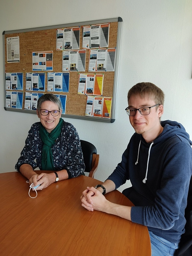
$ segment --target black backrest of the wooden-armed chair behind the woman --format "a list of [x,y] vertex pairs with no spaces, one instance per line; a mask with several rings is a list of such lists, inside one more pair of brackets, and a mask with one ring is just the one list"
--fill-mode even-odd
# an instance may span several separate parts
[[97,154],[97,149],[88,141],[80,140],[80,142],[83,152],[85,171],[90,172],[92,169],[93,154]]

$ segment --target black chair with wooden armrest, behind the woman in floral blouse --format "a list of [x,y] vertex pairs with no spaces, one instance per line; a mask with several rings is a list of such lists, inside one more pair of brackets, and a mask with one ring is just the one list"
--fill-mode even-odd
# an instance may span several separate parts
[[88,176],[93,178],[99,163],[99,155],[97,154],[97,149],[92,143],[88,141],[80,140],[80,142],[83,152],[85,172],[89,172]]

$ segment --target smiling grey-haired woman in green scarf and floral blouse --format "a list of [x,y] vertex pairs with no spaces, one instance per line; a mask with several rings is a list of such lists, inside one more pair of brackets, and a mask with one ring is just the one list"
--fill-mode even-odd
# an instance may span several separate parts
[[[54,94],[44,94],[37,102],[40,122],[33,124],[15,169],[33,183],[36,190],[53,182],[83,174],[84,161],[76,129],[61,118],[61,103]],[[34,161],[36,159],[36,162]],[[34,169],[51,170],[37,174]]]

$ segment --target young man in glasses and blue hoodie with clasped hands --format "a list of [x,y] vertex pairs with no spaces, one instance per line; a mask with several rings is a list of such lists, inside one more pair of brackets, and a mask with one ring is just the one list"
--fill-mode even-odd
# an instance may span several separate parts
[[[127,95],[129,121],[135,133],[122,161],[102,184],[81,196],[87,210],[100,210],[148,227],[152,256],[173,255],[186,223],[184,212],[192,175],[192,141],[176,121],[161,121],[164,93],[149,82]],[[181,111],[186,111],[181,108]],[[130,179],[123,194],[135,206],[122,206],[104,195]],[[97,188],[97,189],[96,189]]]

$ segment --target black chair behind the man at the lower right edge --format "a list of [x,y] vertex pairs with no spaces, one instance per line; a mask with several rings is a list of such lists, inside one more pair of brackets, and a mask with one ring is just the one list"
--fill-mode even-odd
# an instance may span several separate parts
[[192,256],[192,178],[190,180],[188,202],[185,210],[185,233],[181,235],[179,249],[175,256]]

